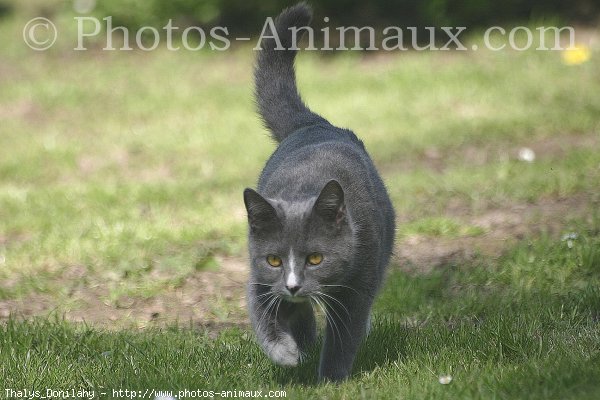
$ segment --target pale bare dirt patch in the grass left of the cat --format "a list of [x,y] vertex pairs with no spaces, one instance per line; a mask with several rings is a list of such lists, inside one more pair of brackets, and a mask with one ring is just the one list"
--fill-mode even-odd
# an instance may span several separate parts
[[61,279],[73,289],[66,298],[34,293],[18,300],[0,300],[0,319],[51,316],[105,328],[146,328],[177,322],[214,330],[245,324],[244,285],[247,263],[220,258],[218,271],[199,271],[178,287],[169,287],[149,298],[121,296],[108,300],[103,285],[72,285],[78,268],[67,269]]

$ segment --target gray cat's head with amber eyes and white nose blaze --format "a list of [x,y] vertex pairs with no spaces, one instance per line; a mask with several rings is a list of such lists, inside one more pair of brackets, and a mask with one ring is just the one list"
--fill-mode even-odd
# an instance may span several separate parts
[[[330,181],[304,202],[244,192],[250,225],[251,284],[288,301],[306,301],[343,285],[354,251],[344,192]],[[267,290],[268,289],[268,290]]]

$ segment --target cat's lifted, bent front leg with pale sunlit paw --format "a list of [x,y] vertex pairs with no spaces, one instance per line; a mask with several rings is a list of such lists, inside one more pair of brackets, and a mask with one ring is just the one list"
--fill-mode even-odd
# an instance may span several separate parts
[[289,303],[273,295],[249,293],[248,306],[263,351],[278,365],[298,365],[302,352],[316,337],[310,304]]

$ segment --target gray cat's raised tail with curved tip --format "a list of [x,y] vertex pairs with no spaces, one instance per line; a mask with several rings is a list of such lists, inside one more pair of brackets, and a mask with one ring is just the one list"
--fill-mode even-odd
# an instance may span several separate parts
[[278,142],[302,127],[327,122],[309,110],[296,86],[297,42],[311,17],[310,6],[298,3],[283,10],[274,21],[267,20],[261,35],[262,50],[254,71],[255,96],[260,116]]

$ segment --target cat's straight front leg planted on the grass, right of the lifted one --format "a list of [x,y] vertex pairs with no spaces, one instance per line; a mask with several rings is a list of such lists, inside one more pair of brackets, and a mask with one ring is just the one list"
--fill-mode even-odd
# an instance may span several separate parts
[[340,381],[352,371],[358,347],[370,326],[369,296],[327,299],[327,327],[321,351],[319,379]]

